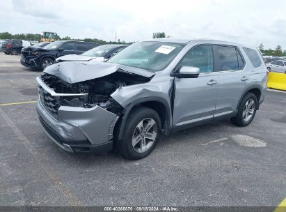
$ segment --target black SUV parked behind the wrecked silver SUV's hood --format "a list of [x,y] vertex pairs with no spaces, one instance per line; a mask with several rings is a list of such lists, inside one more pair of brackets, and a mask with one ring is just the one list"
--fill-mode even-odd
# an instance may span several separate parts
[[47,66],[53,64],[55,59],[59,56],[67,54],[82,54],[97,46],[97,43],[59,40],[54,43],[50,43],[43,48],[27,47],[21,52],[21,63],[26,67],[41,68],[44,70]]

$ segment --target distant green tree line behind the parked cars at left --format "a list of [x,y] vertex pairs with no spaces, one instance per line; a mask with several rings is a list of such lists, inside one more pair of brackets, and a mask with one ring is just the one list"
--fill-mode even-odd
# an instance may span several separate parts
[[[11,34],[8,32],[1,32],[0,33],[0,39],[19,39],[19,40],[30,40],[30,41],[38,41],[42,38],[41,34],[38,33],[20,33],[20,34]],[[116,42],[115,41],[106,41],[106,40],[101,40],[101,39],[97,39],[97,38],[84,38],[84,39],[74,39],[74,38],[70,38],[70,36],[65,36],[63,38],[61,38],[60,36],[56,35],[56,40],[79,40],[79,41],[86,41],[86,42],[94,42],[94,43],[98,43],[100,45],[104,45],[104,44],[131,44],[131,43],[125,43],[124,40],[120,40],[118,39]]]

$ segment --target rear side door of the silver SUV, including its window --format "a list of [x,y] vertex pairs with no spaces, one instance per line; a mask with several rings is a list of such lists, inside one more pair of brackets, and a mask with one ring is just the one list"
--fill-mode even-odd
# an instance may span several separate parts
[[216,45],[215,66],[219,72],[220,86],[214,119],[236,112],[237,104],[248,81],[244,73],[245,61],[238,47]]

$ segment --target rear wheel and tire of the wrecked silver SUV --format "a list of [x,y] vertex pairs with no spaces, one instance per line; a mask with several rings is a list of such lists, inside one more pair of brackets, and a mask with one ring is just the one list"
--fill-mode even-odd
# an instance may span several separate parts
[[[246,104],[248,104],[248,106]],[[248,110],[246,109],[246,107],[248,107]],[[244,96],[243,100],[239,105],[237,116],[231,118],[230,120],[236,126],[239,127],[248,126],[248,124],[250,124],[251,121],[253,121],[257,108],[258,108],[258,101],[255,94],[246,93],[246,96]]]

